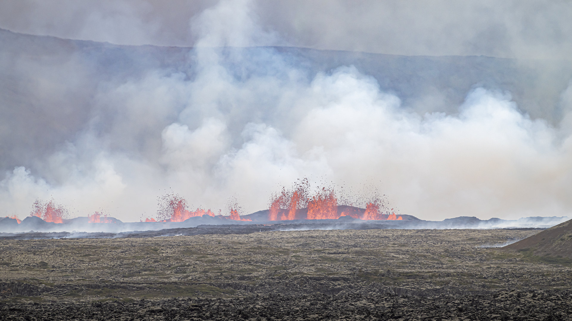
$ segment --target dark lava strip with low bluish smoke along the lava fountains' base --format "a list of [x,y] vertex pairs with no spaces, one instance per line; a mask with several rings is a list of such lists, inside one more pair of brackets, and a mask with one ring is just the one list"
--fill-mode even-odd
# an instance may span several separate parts
[[[339,210],[347,212],[349,210],[363,211],[363,208],[340,206]],[[301,216],[305,216],[304,209],[299,210]],[[121,220],[109,218],[108,223],[89,223],[87,217],[78,217],[73,219],[64,219],[63,223],[45,222],[37,216],[28,216],[18,224],[16,219],[0,218],[0,236],[18,234],[22,232],[128,232],[128,231],[149,231],[163,230],[169,228],[188,228],[199,226],[232,226],[232,225],[253,225],[253,226],[289,226],[291,224],[303,224],[307,228],[329,228],[329,229],[348,229],[348,228],[406,228],[406,229],[425,229],[425,228],[539,228],[544,229],[568,220],[567,216],[558,217],[528,217],[517,220],[504,220],[499,218],[491,218],[481,220],[474,216],[459,216],[442,221],[422,220],[412,215],[400,214],[402,220],[380,219],[380,220],[362,220],[355,219],[351,216],[341,216],[338,219],[295,219],[295,220],[268,220],[268,210],[254,212],[249,215],[241,215],[241,218],[249,218],[249,221],[232,220],[223,216],[196,216],[184,220],[183,222],[121,222]],[[113,222],[113,223],[112,223]],[[570,222],[570,221],[568,221]],[[269,224],[269,225],[268,225]],[[357,225],[356,225],[357,224]],[[561,224],[562,225],[562,224]],[[572,233],[566,234],[570,235]],[[570,252],[570,251],[569,251]],[[561,254],[555,254],[561,255]]]

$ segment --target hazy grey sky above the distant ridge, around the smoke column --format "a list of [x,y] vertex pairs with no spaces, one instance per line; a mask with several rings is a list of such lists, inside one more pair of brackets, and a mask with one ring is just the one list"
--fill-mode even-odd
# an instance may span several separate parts
[[[243,1],[246,3],[246,1]],[[125,45],[193,46],[192,21],[217,1],[3,0],[0,27]],[[252,1],[279,37],[255,45],[404,55],[568,58],[569,1]],[[233,12],[229,12],[233,15]]]

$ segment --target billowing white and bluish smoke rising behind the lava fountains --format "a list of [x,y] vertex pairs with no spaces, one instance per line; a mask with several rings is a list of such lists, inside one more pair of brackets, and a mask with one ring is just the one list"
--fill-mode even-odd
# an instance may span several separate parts
[[557,121],[531,118],[502,84],[475,83],[452,112],[418,108],[367,70],[316,71],[292,50],[255,47],[280,43],[256,21],[248,2],[220,2],[193,19],[192,49],[38,37],[55,43],[39,51],[4,32],[2,82],[16,85],[0,102],[0,215],[53,198],[72,216],[139,220],[169,190],[213,211],[235,196],[248,214],[303,177],[370,184],[421,219],[572,210],[572,89]]

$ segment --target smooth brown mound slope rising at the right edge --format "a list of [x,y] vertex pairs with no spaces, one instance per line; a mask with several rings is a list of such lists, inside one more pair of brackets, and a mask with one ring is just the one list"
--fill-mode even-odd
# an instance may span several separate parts
[[572,219],[502,247],[502,249],[532,251],[534,255],[572,258]]

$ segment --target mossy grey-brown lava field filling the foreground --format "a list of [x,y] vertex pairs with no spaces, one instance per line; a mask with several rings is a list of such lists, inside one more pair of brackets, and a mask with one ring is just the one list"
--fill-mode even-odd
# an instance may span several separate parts
[[538,230],[0,239],[2,320],[570,320]]

